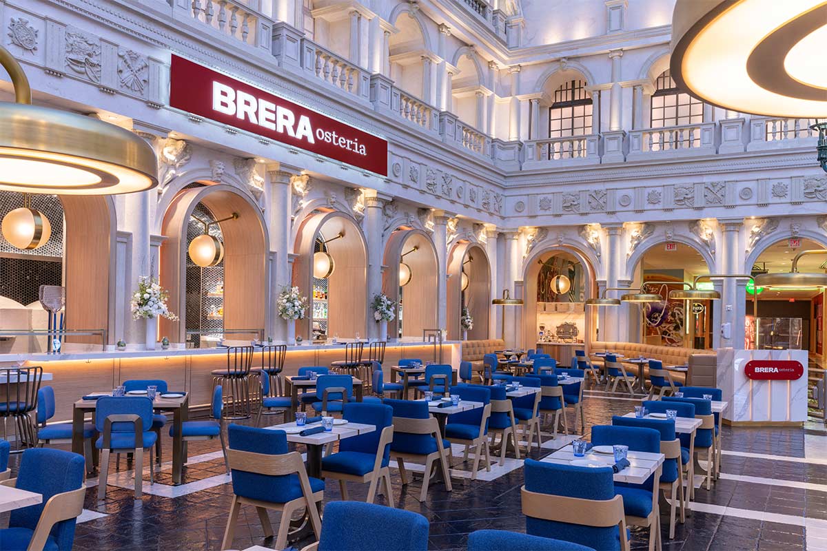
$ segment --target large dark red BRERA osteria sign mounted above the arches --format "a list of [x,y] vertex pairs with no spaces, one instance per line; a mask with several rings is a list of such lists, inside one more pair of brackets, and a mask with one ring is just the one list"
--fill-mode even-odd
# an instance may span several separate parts
[[177,55],[170,107],[388,175],[386,140]]

